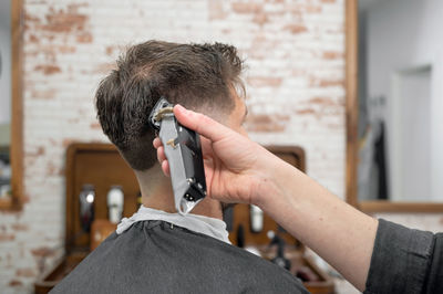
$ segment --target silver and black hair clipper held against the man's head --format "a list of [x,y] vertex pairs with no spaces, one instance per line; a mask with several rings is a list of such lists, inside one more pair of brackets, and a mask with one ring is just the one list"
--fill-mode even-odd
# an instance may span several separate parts
[[162,97],[150,115],[169,164],[175,208],[188,213],[206,196],[205,169],[200,137],[182,126],[173,114],[173,105]]

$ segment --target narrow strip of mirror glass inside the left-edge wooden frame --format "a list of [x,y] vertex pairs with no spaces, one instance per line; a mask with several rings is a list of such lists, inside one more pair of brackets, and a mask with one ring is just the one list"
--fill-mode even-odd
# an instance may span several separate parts
[[10,1],[0,1],[0,199],[11,197],[11,17]]

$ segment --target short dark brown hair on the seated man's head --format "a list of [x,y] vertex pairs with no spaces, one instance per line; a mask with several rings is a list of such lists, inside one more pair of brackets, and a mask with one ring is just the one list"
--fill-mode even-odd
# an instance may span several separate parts
[[194,111],[229,114],[231,90],[243,84],[241,60],[231,45],[147,41],[131,46],[95,94],[103,133],[133,169],[156,162],[148,116],[161,96]]

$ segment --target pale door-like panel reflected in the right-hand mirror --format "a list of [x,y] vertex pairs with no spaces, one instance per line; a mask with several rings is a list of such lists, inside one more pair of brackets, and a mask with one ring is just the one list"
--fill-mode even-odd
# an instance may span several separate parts
[[[398,153],[399,200],[416,201],[420,196],[432,196],[431,191],[431,67],[421,67],[398,75],[396,92],[393,99],[402,102],[396,107],[401,153]],[[415,155],[415,156],[413,156]]]

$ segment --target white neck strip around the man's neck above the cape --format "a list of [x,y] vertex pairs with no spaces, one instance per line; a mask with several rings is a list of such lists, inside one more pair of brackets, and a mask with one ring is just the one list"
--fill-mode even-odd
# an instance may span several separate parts
[[138,211],[131,218],[123,218],[117,225],[116,233],[121,234],[126,231],[133,223],[145,220],[162,220],[172,224],[188,229],[190,231],[203,233],[223,242],[230,244],[226,223],[222,220],[188,213],[182,216],[179,213],[168,213],[162,210],[156,210],[141,206]]

